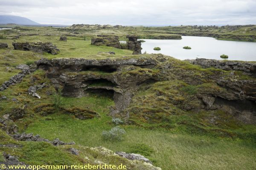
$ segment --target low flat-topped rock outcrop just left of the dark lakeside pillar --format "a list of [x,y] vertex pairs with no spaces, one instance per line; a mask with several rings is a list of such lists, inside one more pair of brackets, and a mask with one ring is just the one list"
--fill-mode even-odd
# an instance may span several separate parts
[[98,35],[96,38],[92,38],[92,45],[107,45],[114,48],[121,48],[119,37],[111,35]]

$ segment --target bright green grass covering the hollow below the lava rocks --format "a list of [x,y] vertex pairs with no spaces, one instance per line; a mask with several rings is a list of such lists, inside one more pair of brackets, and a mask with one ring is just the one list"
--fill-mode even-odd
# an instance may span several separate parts
[[[214,138],[188,133],[173,133],[172,130],[148,130],[125,126],[126,134],[122,141],[112,142],[102,139],[102,131],[113,127],[107,116],[108,106],[113,105],[109,98],[94,96],[81,99],[64,98],[64,107],[89,107],[100,113],[100,118],[79,120],[70,115],[54,113],[33,122],[27,133],[40,134],[47,139],[60,138],[75,141],[89,147],[103,146],[113,151],[134,152],[134,148],[145,144],[152,151],[148,158],[163,170],[253,170],[256,162],[256,145],[246,140]],[[141,154],[145,150],[135,150]]]

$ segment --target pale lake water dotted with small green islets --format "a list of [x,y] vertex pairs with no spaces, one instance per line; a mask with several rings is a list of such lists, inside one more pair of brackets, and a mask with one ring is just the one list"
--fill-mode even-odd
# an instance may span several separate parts
[[[182,40],[143,39],[142,53],[162,53],[177,59],[221,59],[221,54],[228,55],[228,60],[256,61],[256,42],[216,40],[212,37],[182,36]],[[190,46],[192,49],[183,49]],[[153,48],[160,47],[156,51]]]

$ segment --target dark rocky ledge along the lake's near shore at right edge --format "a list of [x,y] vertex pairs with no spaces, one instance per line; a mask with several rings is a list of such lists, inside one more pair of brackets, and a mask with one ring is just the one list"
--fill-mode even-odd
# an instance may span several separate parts
[[238,62],[238,61],[221,61],[216,59],[187,59],[191,64],[201,65],[202,68],[218,68],[226,71],[240,70],[246,74],[256,77],[256,63],[253,62]]

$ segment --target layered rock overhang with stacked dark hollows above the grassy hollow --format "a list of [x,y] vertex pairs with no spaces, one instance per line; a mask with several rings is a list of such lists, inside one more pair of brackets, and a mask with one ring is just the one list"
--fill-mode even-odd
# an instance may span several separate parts
[[[139,68],[153,68],[157,59],[139,57],[137,59],[41,59],[38,68],[47,71],[47,77],[56,87],[63,86],[64,96],[87,96],[98,93],[113,97],[118,113],[128,106],[131,96],[141,83],[154,79],[154,74],[146,71],[125,77],[122,72]],[[102,74],[104,73],[104,74]]]

